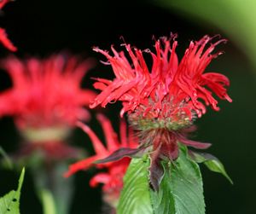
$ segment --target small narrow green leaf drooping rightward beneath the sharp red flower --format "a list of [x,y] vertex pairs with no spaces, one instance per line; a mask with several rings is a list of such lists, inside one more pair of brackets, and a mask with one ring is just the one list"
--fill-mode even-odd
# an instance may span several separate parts
[[218,173],[222,174],[230,181],[230,183],[233,184],[233,181],[231,180],[228,173],[225,171],[224,165],[220,162],[219,159],[217,159],[210,153],[191,152],[191,154],[192,154],[191,155],[192,159],[195,159],[196,162],[203,163],[204,165],[207,165],[207,168],[210,171],[214,171],[214,172],[218,172]]

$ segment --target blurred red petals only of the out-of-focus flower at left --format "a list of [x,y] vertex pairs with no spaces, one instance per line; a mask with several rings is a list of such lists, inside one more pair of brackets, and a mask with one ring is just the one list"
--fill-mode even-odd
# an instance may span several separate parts
[[9,57],[1,66],[9,72],[13,86],[0,93],[0,115],[14,116],[20,130],[26,130],[25,135],[44,128],[67,130],[77,119],[90,118],[84,107],[95,93],[81,89],[80,84],[92,61],[79,61],[75,56],[67,58],[65,55],[26,61]]

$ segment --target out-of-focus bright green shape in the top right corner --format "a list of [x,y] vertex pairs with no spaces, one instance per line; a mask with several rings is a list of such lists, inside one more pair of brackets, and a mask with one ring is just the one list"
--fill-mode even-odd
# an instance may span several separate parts
[[256,67],[256,2],[254,0],[154,0],[171,13],[218,27],[232,39]]

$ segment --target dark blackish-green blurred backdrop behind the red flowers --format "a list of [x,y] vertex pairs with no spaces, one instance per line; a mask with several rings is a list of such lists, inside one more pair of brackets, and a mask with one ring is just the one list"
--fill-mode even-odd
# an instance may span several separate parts
[[[99,62],[105,59],[92,51],[93,46],[109,49],[110,45],[114,44],[119,49],[119,43],[123,43],[120,37],[124,37],[126,43],[140,49],[152,49],[153,36],[159,38],[177,32],[177,52],[180,58],[190,40],[200,39],[205,34],[221,34],[222,37],[228,38],[229,43],[218,47],[223,49],[225,54],[212,61],[207,71],[222,72],[230,78],[229,94],[233,102],[220,101],[221,111],[218,113],[208,109],[207,114],[196,121],[198,130],[195,139],[212,143],[208,152],[224,163],[234,181],[234,185],[230,185],[223,176],[201,167],[207,213],[256,213],[256,71],[252,61],[245,55],[247,49],[242,49],[241,43],[237,43],[232,34],[225,32],[218,25],[200,17],[194,19],[192,14],[183,14],[182,9],[172,9],[160,2],[17,0],[3,9],[0,23],[18,47],[15,55],[19,57],[47,56],[64,49],[84,58],[95,57]],[[182,6],[188,7],[185,1]],[[211,7],[206,9],[211,10]],[[232,23],[232,17],[224,14],[224,11],[223,17]],[[254,45],[256,48],[256,43]],[[6,55],[9,55],[9,52],[2,48],[0,56],[3,58]],[[99,62],[84,78],[84,87],[92,88],[90,77],[113,76],[110,67]],[[1,90],[10,84],[8,75],[1,72]],[[120,105],[112,105],[105,111],[115,127],[118,127],[119,109]],[[102,136],[94,117],[90,125]],[[19,136],[13,120],[1,119],[0,130],[0,145],[8,153],[14,153],[19,145]],[[72,141],[73,145],[78,147],[90,145],[88,137],[81,130],[74,132]],[[88,185],[93,173],[94,171],[79,172],[75,176],[75,195],[70,213],[100,213],[101,190],[91,189]],[[0,170],[0,195],[16,187],[18,176],[13,171]],[[29,169],[26,171],[21,194],[21,213],[42,213]]]

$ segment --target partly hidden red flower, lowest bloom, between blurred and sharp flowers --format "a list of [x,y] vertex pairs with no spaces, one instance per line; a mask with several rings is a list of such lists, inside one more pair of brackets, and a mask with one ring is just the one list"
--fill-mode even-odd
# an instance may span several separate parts
[[[126,136],[126,125],[124,121],[120,124],[120,142],[117,134],[114,132],[110,121],[106,119],[102,114],[97,115],[97,119],[102,124],[102,128],[105,134],[107,147],[97,138],[96,134],[90,130],[90,128],[82,123],[78,123],[85,133],[90,136],[93,147],[96,154],[90,158],[84,159],[69,166],[65,176],[71,176],[73,173],[81,170],[87,170],[91,166],[95,165],[95,161],[98,159],[104,159],[115,151],[134,151],[138,146],[137,138],[133,137],[132,133]],[[116,154],[118,156],[119,154]],[[99,169],[106,168],[106,172],[100,172],[90,180],[90,186],[96,187],[99,183],[103,183],[104,200],[109,204],[115,206],[119,199],[119,194],[123,188],[123,177],[130,164],[131,158],[125,157],[117,161],[96,164]]]

